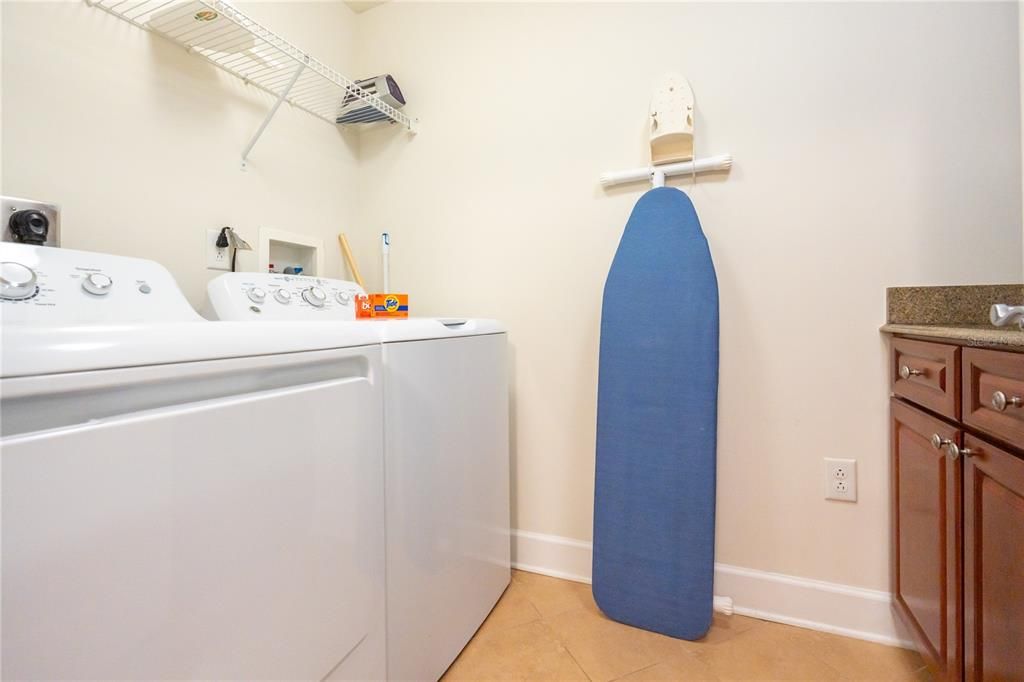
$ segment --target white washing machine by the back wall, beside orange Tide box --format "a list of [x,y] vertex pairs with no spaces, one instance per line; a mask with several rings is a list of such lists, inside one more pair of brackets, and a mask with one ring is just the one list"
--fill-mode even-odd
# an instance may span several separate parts
[[255,272],[209,286],[210,309],[222,319],[328,318],[380,341],[387,672],[435,680],[510,579],[506,334],[490,319],[352,323],[356,293],[350,282]]

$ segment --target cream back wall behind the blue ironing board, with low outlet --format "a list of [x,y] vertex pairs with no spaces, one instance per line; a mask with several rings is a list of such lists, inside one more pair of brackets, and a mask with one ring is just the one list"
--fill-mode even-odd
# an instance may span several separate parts
[[[1011,4],[419,4],[358,17],[422,119],[365,135],[359,256],[510,329],[514,525],[589,539],[601,290],[656,77],[686,75],[721,288],[718,559],[886,589],[885,287],[1019,281]],[[984,163],[972,165],[972,160]],[[642,334],[643,330],[637,330]],[[857,504],[826,502],[825,456]],[[681,539],[684,540],[684,539]]]

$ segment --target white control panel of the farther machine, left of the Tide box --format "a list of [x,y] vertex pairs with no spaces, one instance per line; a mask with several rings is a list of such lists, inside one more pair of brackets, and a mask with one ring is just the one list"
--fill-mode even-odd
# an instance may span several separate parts
[[211,319],[355,319],[354,282],[302,274],[226,272],[207,286]]

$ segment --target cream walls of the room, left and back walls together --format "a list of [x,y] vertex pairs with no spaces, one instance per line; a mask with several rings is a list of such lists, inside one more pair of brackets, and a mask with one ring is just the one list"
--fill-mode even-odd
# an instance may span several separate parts
[[[737,164],[679,183],[721,286],[719,559],[886,587],[884,288],[1021,278],[1013,4],[246,4],[395,74],[423,121],[360,140],[286,106],[247,173],[266,95],[85,3],[0,5],[4,193],[196,303],[208,226],[323,236],[329,273],[346,229],[372,279],[389,229],[419,313],[508,324],[515,525],[579,539],[601,288],[643,188],[597,176],[644,160],[651,85],[685,74],[698,153]],[[823,456],[858,460],[856,505],[821,499]]]

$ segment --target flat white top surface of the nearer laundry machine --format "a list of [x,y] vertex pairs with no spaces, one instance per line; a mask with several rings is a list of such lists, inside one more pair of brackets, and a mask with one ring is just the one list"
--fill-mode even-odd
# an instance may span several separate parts
[[5,324],[0,377],[348,348],[380,343],[357,322]]

